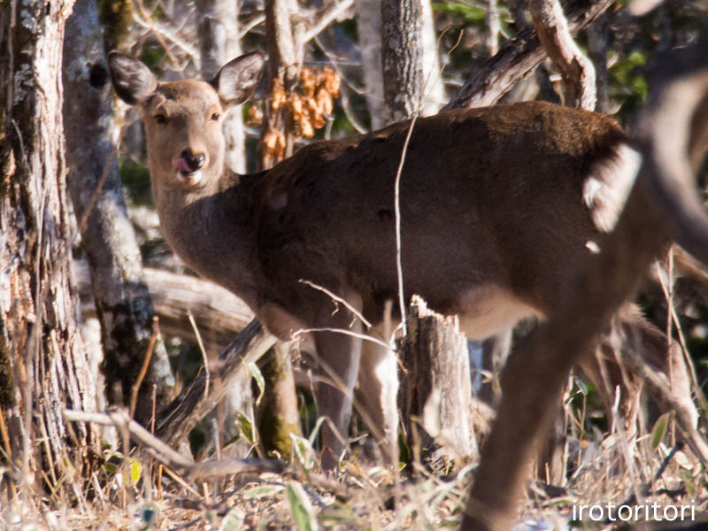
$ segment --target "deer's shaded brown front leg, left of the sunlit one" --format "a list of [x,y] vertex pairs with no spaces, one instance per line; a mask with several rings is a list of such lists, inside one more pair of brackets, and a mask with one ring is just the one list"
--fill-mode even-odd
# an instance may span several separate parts
[[327,316],[322,327],[339,331],[315,332],[320,379],[315,389],[319,413],[328,421],[322,424],[322,466],[335,469],[349,434],[351,396],[361,357],[361,323],[340,309]]

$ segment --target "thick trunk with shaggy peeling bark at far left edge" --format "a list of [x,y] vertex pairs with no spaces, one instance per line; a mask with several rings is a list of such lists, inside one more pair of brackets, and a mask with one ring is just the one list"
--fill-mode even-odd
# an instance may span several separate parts
[[67,407],[96,408],[65,196],[60,68],[72,4],[0,4],[0,378],[6,424],[19,434],[4,446],[12,466],[21,463],[10,477],[34,476],[36,486],[59,492],[71,478],[89,477],[101,455],[88,424],[69,430],[62,418]]

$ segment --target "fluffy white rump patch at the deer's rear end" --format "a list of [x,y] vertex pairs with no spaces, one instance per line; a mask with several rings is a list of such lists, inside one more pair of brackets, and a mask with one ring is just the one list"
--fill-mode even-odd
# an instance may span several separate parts
[[612,156],[597,162],[590,170],[582,187],[582,199],[599,230],[612,231],[620,219],[641,165],[639,151],[620,143]]

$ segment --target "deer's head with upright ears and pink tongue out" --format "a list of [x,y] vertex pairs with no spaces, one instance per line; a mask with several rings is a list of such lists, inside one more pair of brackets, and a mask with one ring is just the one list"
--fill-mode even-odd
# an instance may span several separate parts
[[263,56],[235,58],[209,82],[159,83],[141,61],[117,51],[108,63],[116,94],[140,111],[153,185],[197,189],[218,180],[224,171],[224,112],[253,95]]

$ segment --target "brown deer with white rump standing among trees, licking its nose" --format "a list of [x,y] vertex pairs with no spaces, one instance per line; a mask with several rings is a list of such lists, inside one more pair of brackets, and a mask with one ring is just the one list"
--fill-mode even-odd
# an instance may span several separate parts
[[[573,289],[642,160],[611,117],[523,102],[313,142],[272,169],[237,174],[225,165],[221,119],[256,92],[262,54],[231,60],[211,81],[159,82],[118,51],[108,62],[116,94],[142,119],[152,196],[173,251],[242,298],[281,340],[307,331],[339,382],[315,389],[329,421],[320,434],[326,467],[342,456],[355,389],[384,455],[396,459],[397,367],[385,314],[399,292],[394,188],[409,128],[399,196],[404,298],[417,294],[436,312],[457,314],[478,340],[519,319],[544,319]],[[635,306],[617,319],[675,382],[696,423],[680,351],[666,348]],[[586,368],[599,379],[596,363]],[[612,388],[622,383],[620,371],[609,373]]]

